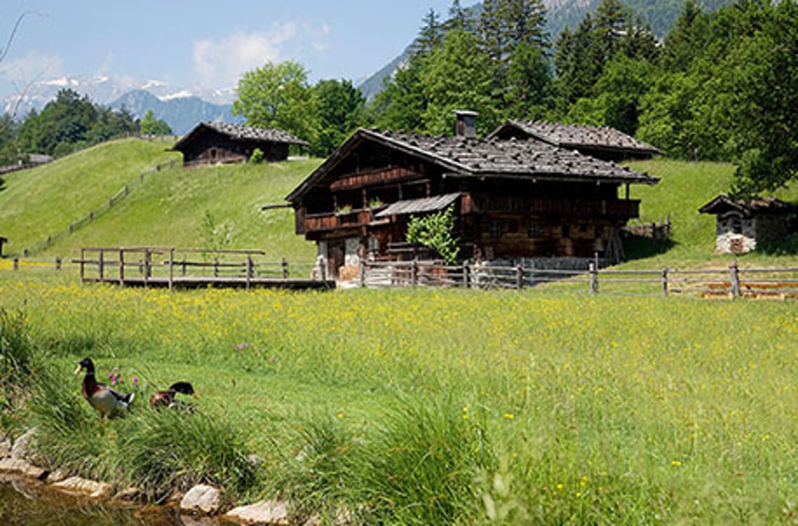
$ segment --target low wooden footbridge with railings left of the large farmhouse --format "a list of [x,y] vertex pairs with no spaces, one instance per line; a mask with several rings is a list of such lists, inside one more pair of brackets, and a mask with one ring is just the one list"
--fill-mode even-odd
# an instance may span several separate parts
[[312,265],[291,266],[265,259],[263,251],[206,250],[173,247],[84,247],[83,283],[117,283],[121,287],[334,289],[335,282],[310,276]]

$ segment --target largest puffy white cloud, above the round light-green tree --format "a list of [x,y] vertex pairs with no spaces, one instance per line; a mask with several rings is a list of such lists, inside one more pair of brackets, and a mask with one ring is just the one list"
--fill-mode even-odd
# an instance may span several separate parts
[[236,85],[242,73],[281,59],[281,45],[296,38],[292,22],[274,26],[267,33],[236,32],[220,41],[194,42],[194,68],[203,85]]

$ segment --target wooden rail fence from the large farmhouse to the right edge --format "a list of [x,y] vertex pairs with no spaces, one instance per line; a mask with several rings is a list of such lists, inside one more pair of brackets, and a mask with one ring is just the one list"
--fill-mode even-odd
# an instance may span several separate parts
[[517,265],[447,266],[425,261],[365,262],[361,287],[464,287],[522,289],[549,283],[549,290],[593,294],[701,295],[705,298],[798,298],[798,267],[679,270],[599,269],[595,263],[582,271],[529,268]]

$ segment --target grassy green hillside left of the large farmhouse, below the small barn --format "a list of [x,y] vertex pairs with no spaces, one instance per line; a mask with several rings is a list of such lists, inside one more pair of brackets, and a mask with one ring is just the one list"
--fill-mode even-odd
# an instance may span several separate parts
[[[180,154],[164,148],[163,143],[123,140],[46,168],[17,172],[7,180],[8,190],[0,192],[0,235],[10,239],[4,253],[18,255],[89,212],[105,209],[85,227],[31,256],[73,257],[89,246],[210,247],[212,243],[263,250],[275,261],[314,258],[312,243],[294,234],[293,211],[261,207],[284,202],[318,160],[190,170],[176,164],[151,171],[158,163],[180,160]],[[125,184],[129,195],[108,209],[109,197]]]

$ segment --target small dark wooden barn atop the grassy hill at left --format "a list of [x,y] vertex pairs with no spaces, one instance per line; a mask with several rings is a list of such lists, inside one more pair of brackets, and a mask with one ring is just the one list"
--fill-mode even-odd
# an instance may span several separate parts
[[291,144],[308,145],[280,129],[202,122],[180,139],[172,151],[183,153],[185,166],[243,163],[249,160],[255,148],[260,148],[264,160],[279,161],[288,158]]

